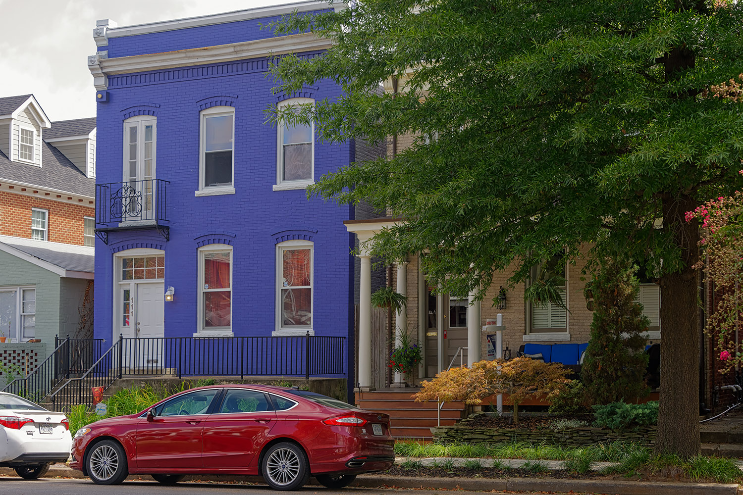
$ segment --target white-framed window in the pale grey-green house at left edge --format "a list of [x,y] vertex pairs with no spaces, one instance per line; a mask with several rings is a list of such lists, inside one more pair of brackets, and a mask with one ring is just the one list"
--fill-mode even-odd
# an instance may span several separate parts
[[36,335],[36,288],[0,287],[0,337],[25,342]]

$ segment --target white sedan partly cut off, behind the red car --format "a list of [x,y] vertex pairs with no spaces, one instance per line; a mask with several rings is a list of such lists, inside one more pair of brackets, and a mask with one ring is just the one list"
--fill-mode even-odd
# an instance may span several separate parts
[[25,479],[36,479],[53,462],[70,456],[70,423],[12,393],[0,392],[0,467],[13,468]]

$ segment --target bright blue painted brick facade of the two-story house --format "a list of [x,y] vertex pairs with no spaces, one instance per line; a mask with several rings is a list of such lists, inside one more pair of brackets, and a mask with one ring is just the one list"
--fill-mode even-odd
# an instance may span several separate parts
[[[256,22],[195,28],[184,33],[131,36],[111,40],[117,55],[166,51],[190,46],[265,37]],[[189,30],[183,30],[189,31]],[[239,34],[238,34],[239,33]],[[156,47],[156,48],[155,48]],[[109,56],[111,51],[109,51]],[[308,56],[312,56],[309,53]],[[307,235],[314,241],[315,335],[347,338],[353,350],[354,260],[352,236],[343,225],[351,208],[322,200],[307,200],[304,190],[273,191],[276,183],[276,127],[265,122],[265,108],[282,96],[271,93],[263,60],[158,71],[158,76],[125,74],[111,78],[107,102],[97,108],[97,183],[120,183],[123,161],[123,120],[137,114],[157,117],[157,178],[168,180],[166,209],[170,237],[154,229],[111,232],[108,245],[96,245],[95,336],[114,341],[114,253],[133,247],[165,251],[165,286],[175,287],[175,300],[165,303],[165,335],[191,336],[197,327],[198,247],[215,240],[233,246],[233,332],[236,336],[270,336],[275,330],[276,242],[282,236]],[[149,73],[150,75],[155,73]],[[334,99],[334,82],[318,82],[301,95]],[[210,101],[235,108],[236,194],[195,197],[199,174],[199,111]],[[207,105],[207,106],[205,106]],[[316,178],[351,160],[353,143],[315,142]],[[100,204],[100,203],[99,203]],[[348,370],[348,356],[344,360]],[[351,376],[353,376],[351,374]]]

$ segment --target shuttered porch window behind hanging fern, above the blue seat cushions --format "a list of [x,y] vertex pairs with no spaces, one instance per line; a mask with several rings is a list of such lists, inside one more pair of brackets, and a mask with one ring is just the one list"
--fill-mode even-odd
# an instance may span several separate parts
[[[567,270],[565,255],[560,252],[552,256],[549,260],[531,268],[530,280],[546,281],[554,279],[554,285],[565,303],[567,292]],[[568,331],[568,312],[564,307],[553,304],[549,301],[531,301],[530,325],[531,332],[567,332]]]

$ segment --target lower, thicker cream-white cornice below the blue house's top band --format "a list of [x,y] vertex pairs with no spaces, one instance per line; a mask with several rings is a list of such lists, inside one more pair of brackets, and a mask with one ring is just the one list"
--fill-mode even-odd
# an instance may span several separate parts
[[[218,64],[233,60],[256,59],[262,56],[282,55],[314,50],[326,50],[332,46],[328,39],[318,38],[314,33],[277,36],[252,42],[231,43],[206,48],[189,48],[165,53],[122,56],[114,59],[88,57],[88,68],[98,65],[103,76],[144,71],[158,71],[189,65]],[[91,64],[92,62],[92,64]],[[94,77],[97,75],[91,68]]]

